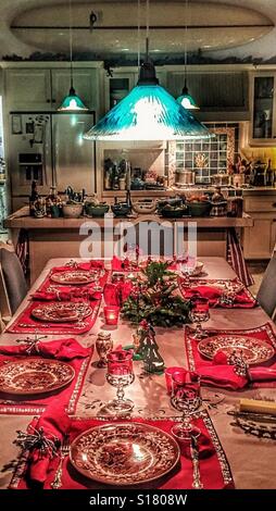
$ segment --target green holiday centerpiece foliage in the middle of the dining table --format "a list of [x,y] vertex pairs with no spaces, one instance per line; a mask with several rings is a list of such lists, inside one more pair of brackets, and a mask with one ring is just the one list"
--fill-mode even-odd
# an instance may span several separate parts
[[150,261],[137,275],[121,311],[133,324],[138,326],[142,320],[164,327],[188,323],[191,303],[177,294],[177,275],[168,270],[170,264],[170,261]]

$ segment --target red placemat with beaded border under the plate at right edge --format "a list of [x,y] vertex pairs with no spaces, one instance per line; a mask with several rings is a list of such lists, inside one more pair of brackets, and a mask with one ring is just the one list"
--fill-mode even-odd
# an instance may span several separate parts
[[[276,352],[276,338],[269,323],[251,329],[209,331],[205,328],[204,331],[210,333],[210,338],[223,335],[229,336],[231,334],[242,337],[254,337],[272,345]],[[237,375],[234,365],[215,364],[212,360],[202,357],[198,350],[198,341],[191,337],[191,328],[186,326],[185,348],[188,367],[190,371],[197,371],[201,374],[203,384],[227,388],[228,390],[242,389],[249,384],[254,388],[276,387],[276,356],[264,364],[250,369],[252,378],[249,381],[246,377]],[[271,370],[275,371],[275,375],[269,375]],[[260,373],[259,375],[256,374],[258,372]]]

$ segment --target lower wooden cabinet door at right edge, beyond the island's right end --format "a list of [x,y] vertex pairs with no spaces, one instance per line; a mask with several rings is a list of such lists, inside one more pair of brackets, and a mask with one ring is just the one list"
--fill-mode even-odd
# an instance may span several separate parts
[[244,228],[243,252],[246,259],[271,258],[273,224],[274,222],[271,217],[255,217],[254,226]]

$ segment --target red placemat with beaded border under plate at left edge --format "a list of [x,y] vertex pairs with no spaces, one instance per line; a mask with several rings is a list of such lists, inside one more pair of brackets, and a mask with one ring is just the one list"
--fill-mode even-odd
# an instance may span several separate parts
[[[46,397],[39,396],[35,399],[29,399],[29,397],[27,399],[24,399],[24,397],[13,397],[12,400],[7,400],[5,396],[0,394],[0,413],[16,415],[40,414],[49,404],[58,399],[60,407],[65,407],[67,413],[73,415],[76,411],[92,353],[93,350],[91,350],[90,356],[85,359],[73,359],[67,362],[75,370],[75,377],[67,387],[61,389],[59,392]],[[0,356],[0,365],[7,361],[11,362],[13,360],[18,360],[18,357]]]

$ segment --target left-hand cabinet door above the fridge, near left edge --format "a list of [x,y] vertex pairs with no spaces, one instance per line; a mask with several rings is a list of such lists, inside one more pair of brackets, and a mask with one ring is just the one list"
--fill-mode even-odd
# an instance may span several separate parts
[[49,70],[8,70],[5,91],[10,110],[49,110],[51,87]]

